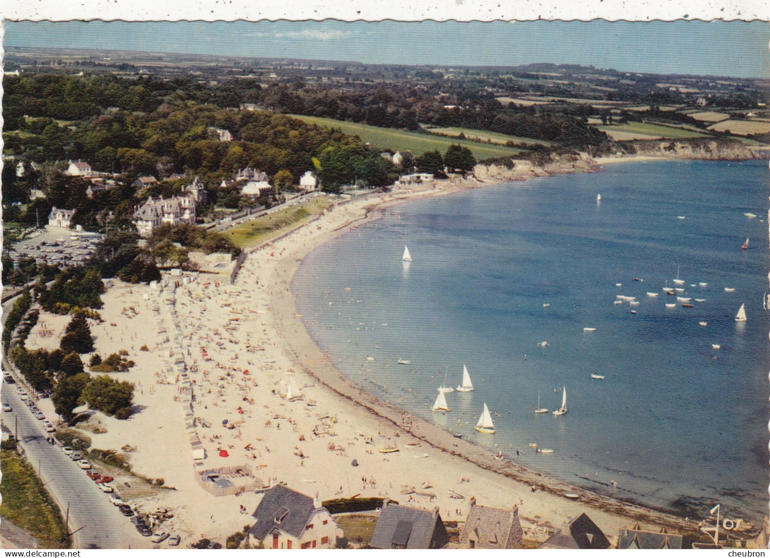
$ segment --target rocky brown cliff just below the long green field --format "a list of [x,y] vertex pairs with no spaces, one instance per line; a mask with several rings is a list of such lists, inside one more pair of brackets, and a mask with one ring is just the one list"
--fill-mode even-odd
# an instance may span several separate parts
[[527,180],[535,176],[551,176],[566,173],[595,173],[601,166],[587,153],[556,155],[537,164],[530,160],[511,160],[511,166],[502,164],[478,164],[474,175],[480,182],[487,180]]

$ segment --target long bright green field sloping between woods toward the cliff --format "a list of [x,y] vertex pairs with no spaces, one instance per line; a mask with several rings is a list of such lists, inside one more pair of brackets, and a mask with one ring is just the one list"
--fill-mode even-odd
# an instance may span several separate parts
[[484,145],[470,140],[453,140],[451,138],[431,136],[426,133],[404,132],[393,128],[380,128],[378,126],[369,126],[368,124],[343,122],[332,118],[319,118],[317,116],[303,116],[297,114],[292,114],[290,116],[303,120],[309,124],[330,126],[340,129],[343,133],[351,136],[359,136],[361,140],[369,142],[373,146],[383,150],[410,151],[415,156],[433,150],[438,150],[439,153],[443,155],[446,153],[447,148],[453,143],[459,143],[461,146],[466,146],[470,152],[474,154],[476,160],[479,161],[509,157],[523,151],[516,147]]

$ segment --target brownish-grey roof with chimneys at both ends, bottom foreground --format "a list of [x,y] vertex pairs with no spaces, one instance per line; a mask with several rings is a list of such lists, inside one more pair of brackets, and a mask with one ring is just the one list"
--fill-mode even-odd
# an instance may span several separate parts
[[476,548],[524,548],[518,509],[477,506],[471,500],[460,546],[467,547],[468,540],[474,540]]

